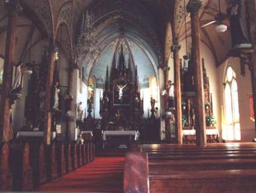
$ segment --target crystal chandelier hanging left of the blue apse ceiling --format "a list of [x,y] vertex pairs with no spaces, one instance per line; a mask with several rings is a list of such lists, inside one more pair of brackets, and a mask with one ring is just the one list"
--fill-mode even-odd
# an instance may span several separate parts
[[97,63],[101,49],[99,49],[94,27],[94,14],[87,10],[82,15],[81,29],[77,37],[76,62],[77,65]]

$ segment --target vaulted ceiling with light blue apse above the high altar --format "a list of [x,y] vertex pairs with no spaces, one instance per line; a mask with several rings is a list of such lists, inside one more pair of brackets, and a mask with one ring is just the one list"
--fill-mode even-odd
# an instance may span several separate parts
[[157,22],[147,7],[137,1],[98,1],[89,10],[94,13],[97,45],[101,52],[97,60],[92,59],[87,64],[81,60],[86,80],[91,75],[99,84],[104,80],[106,68],[111,67],[117,49],[116,42],[121,37],[127,42],[134,65],[137,65],[139,82],[148,85],[151,76],[159,78],[163,49],[156,31]]

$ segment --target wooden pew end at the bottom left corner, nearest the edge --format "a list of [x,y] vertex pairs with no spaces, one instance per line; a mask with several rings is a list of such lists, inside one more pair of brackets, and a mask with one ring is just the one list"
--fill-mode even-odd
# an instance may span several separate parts
[[1,144],[0,191],[12,191],[13,176],[9,169],[9,145]]

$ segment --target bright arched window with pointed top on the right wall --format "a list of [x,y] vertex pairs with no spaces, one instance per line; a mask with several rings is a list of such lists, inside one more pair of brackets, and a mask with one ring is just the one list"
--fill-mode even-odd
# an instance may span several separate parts
[[239,119],[239,98],[237,91],[237,81],[232,67],[227,68],[225,76],[225,121],[227,133],[226,140],[240,140],[240,119]]

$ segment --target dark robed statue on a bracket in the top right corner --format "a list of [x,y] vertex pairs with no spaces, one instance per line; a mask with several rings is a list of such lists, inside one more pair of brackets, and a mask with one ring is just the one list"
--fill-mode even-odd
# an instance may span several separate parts
[[247,30],[247,14],[245,13],[245,0],[232,0],[231,6],[227,9],[230,18],[230,32],[232,47],[252,47]]

